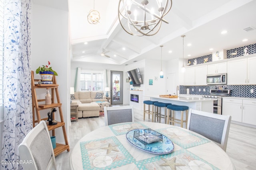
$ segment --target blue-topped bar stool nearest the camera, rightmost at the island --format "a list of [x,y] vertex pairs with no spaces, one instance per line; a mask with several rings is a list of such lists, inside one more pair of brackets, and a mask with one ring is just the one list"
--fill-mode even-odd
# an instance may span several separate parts
[[[186,123],[186,128],[187,128],[187,124],[188,124],[188,106],[178,106],[178,105],[168,105],[167,106],[168,109],[168,114],[167,114],[167,124],[169,124],[170,122],[172,123],[172,125],[174,125],[174,123],[179,123],[180,127],[183,127],[183,123]],[[174,111],[181,111],[181,115],[180,115],[180,119],[176,119],[174,117]],[[186,119],[183,120],[183,111],[186,111]],[[172,115],[173,113],[173,115]],[[169,117],[170,116],[170,117]]]

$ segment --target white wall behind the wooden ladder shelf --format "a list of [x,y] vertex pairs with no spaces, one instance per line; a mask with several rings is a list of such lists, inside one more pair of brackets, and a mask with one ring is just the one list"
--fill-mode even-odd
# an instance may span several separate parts
[[[68,126],[70,125],[70,43],[68,11],[32,3],[31,16],[31,69],[35,72],[36,68],[46,65],[50,61],[50,66],[58,73],[56,80],[59,84],[58,91],[62,103],[62,113],[66,123],[66,133],[68,135]],[[40,79],[39,75],[36,75],[35,78]],[[45,93],[46,90],[38,92],[39,96],[44,96]],[[55,114],[55,119],[60,121],[59,114]],[[56,141],[58,143],[65,143],[62,128],[56,129],[55,133]]]

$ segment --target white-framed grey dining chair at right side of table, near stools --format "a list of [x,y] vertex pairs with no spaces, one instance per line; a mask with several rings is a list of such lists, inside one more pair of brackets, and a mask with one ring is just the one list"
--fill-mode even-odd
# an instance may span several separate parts
[[214,141],[226,152],[230,121],[230,115],[218,115],[190,109],[187,129]]

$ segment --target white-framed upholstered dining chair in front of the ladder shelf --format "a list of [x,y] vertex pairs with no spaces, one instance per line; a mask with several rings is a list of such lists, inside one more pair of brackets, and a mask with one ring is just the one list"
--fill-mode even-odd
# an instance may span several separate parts
[[45,121],[40,121],[26,135],[18,147],[20,160],[32,163],[22,164],[25,170],[56,170],[52,141]]

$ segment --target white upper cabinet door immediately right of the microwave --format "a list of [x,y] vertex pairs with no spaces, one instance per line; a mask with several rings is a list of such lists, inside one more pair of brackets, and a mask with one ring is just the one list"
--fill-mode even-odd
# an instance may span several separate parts
[[247,84],[247,59],[227,62],[228,85]]

